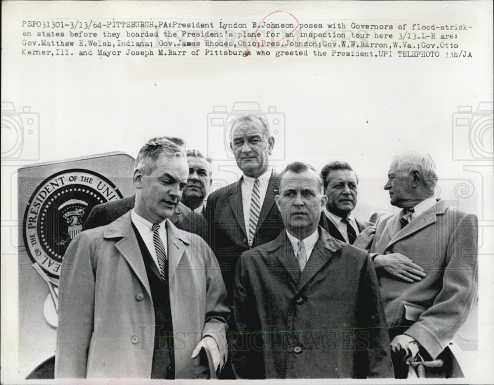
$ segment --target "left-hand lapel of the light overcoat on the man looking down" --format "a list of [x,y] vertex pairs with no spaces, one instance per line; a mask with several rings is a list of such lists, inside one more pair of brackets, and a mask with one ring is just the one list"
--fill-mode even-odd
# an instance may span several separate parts
[[134,230],[132,229],[130,211],[110,223],[103,234],[103,238],[122,238],[117,241],[115,247],[127,261],[139,281],[141,281],[149,296],[151,296],[146,266],[144,265],[144,260],[142,259],[141,250],[139,249]]

